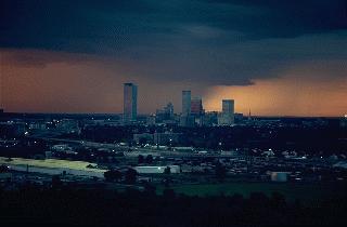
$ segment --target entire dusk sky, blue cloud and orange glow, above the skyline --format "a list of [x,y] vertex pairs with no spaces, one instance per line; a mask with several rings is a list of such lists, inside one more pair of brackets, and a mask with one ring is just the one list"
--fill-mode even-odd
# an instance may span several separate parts
[[0,55],[7,111],[347,114],[346,0],[1,0]]

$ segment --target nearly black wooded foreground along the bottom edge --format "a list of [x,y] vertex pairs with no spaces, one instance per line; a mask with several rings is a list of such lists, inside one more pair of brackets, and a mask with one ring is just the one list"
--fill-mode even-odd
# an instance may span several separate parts
[[[343,186],[346,189],[345,186]],[[335,195],[334,191],[331,191]],[[172,189],[155,193],[25,186],[0,190],[0,225],[34,226],[259,226],[335,225],[346,219],[346,197],[335,195],[305,204],[286,202],[278,192],[249,197],[177,195]]]

